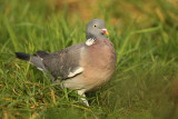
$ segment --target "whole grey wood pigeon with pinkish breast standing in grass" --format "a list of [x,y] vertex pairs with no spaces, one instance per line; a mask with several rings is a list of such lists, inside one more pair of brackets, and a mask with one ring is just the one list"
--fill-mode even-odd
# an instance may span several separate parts
[[81,100],[89,106],[85,92],[110,79],[116,68],[116,52],[102,20],[91,20],[86,33],[85,42],[58,52],[16,52],[16,56],[50,75],[53,82],[62,82],[62,88],[77,90],[82,96]]

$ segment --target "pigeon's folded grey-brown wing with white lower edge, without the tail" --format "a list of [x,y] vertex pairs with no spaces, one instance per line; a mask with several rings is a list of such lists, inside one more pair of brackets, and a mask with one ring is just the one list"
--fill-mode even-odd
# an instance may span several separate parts
[[68,79],[83,71],[79,65],[83,47],[85,43],[79,43],[53,53],[38,51],[37,56],[41,58],[44,67],[55,78]]

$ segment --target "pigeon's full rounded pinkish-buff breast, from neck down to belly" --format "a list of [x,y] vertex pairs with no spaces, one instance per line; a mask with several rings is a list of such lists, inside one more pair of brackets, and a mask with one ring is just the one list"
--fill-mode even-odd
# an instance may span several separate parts
[[116,67],[116,53],[112,43],[108,39],[96,40],[87,47],[81,54],[80,65],[83,67],[83,79],[92,88],[100,86],[110,79]]

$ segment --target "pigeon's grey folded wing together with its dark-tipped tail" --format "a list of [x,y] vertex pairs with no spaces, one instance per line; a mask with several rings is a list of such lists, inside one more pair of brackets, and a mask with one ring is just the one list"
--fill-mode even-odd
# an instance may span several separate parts
[[81,47],[83,47],[83,43],[73,44],[53,53],[44,51],[37,51],[36,54],[16,52],[16,56],[19,59],[29,61],[31,65],[46,72],[48,72],[48,69],[55,79],[60,78],[61,80],[66,80],[69,78],[69,73],[73,72],[79,67]]

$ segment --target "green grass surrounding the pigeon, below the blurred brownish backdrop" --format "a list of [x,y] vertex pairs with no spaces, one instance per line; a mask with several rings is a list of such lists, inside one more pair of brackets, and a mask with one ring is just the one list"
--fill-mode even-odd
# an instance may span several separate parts
[[118,59],[112,79],[87,93],[88,108],[73,91],[53,86],[13,52],[52,52],[82,42],[89,19],[80,20],[78,12],[71,19],[67,7],[55,9],[41,1],[0,1],[0,117],[176,119],[178,11],[161,0],[152,1],[156,13],[146,12],[140,0],[128,3],[147,19],[129,18],[115,2],[99,16]]

